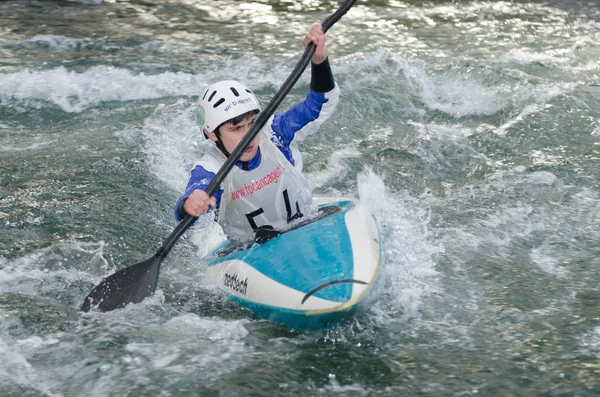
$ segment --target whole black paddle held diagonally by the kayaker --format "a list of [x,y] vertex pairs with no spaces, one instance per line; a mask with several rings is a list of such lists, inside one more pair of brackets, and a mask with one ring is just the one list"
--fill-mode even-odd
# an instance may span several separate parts
[[[346,0],[340,8],[332,15],[327,17],[322,23],[323,32],[333,26],[348,10],[354,5],[356,0]],[[296,64],[296,67],[283,83],[279,91],[275,94],[271,102],[259,114],[254,125],[250,128],[246,136],[241,140],[237,148],[231,153],[225,161],[217,175],[206,188],[206,193],[212,196],[221,185],[231,168],[238,162],[240,156],[250,142],[256,137],[258,132],[266,124],[269,118],[275,112],[275,109],[281,104],[285,96],[290,92],[296,81],[300,78],[310,59],[315,52],[314,43],[310,43],[304,50],[304,54]],[[198,219],[191,215],[186,215],[177,227],[171,232],[167,240],[156,251],[154,256],[143,262],[119,270],[111,276],[106,277],[100,282],[81,305],[84,312],[98,310],[102,312],[111,311],[124,307],[129,303],[138,303],[154,294],[156,284],[158,283],[158,274],[162,261],[169,254],[179,237]]]

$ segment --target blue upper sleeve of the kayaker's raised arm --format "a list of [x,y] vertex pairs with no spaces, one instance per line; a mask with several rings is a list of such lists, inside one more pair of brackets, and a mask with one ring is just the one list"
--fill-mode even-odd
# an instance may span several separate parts
[[292,106],[283,114],[275,115],[271,128],[282,143],[289,146],[298,131],[319,119],[323,105],[328,101],[329,98],[325,93],[309,89],[302,102]]

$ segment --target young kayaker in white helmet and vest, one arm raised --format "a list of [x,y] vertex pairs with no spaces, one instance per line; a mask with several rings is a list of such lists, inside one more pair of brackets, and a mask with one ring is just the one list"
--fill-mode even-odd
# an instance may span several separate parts
[[303,45],[316,46],[306,98],[283,114],[272,116],[231,169],[213,197],[204,191],[226,158],[246,135],[261,108],[241,83],[227,80],[208,86],[198,98],[197,121],[215,146],[198,161],[175,216],[200,216],[218,208],[227,236],[248,240],[261,227],[284,230],[289,223],[316,213],[308,181],[301,174],[298,142],[315,133],[334,112],[339,89],[327,60],[325,34],[315,24]]

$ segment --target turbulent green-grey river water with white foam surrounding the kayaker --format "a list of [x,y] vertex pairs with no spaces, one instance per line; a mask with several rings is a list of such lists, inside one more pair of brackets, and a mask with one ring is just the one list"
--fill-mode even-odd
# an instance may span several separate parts
[[78,311],[176,225],[201,88],[234,78],[266,104],[336,8],[0,2],[0,395],[600,393],[597,1],[359,1],[332,27],[341,102],[302,151],[315,194],[379,221],[366,315],[256,319],[198,265],[212,229],[153,298]]

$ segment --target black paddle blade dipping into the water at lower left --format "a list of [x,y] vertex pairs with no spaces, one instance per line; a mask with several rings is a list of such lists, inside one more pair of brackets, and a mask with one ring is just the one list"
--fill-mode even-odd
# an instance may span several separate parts
[[155,255],[108,276],[89,293],[80,310],[109,312],[153,295],[162,259]]

